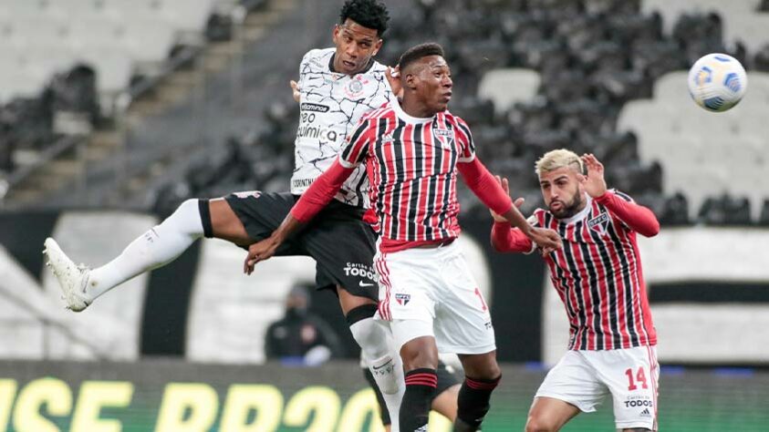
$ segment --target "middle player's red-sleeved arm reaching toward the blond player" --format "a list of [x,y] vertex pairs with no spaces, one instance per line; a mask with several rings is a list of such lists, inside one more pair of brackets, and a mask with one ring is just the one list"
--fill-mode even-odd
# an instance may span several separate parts
[[502,185],[494,180],[494,176],[478,158],[465,163],[458,163],[457,170],[462,174],[462,179],[473,190],[483,204],[502,216],[511,226],[521,230],[525,236],[535,242],[543,252],[549,253],[561,247],[561,237],[556,231],[535,228],[526,221],[526,218],[510,200],[509,192],[502,189]]

